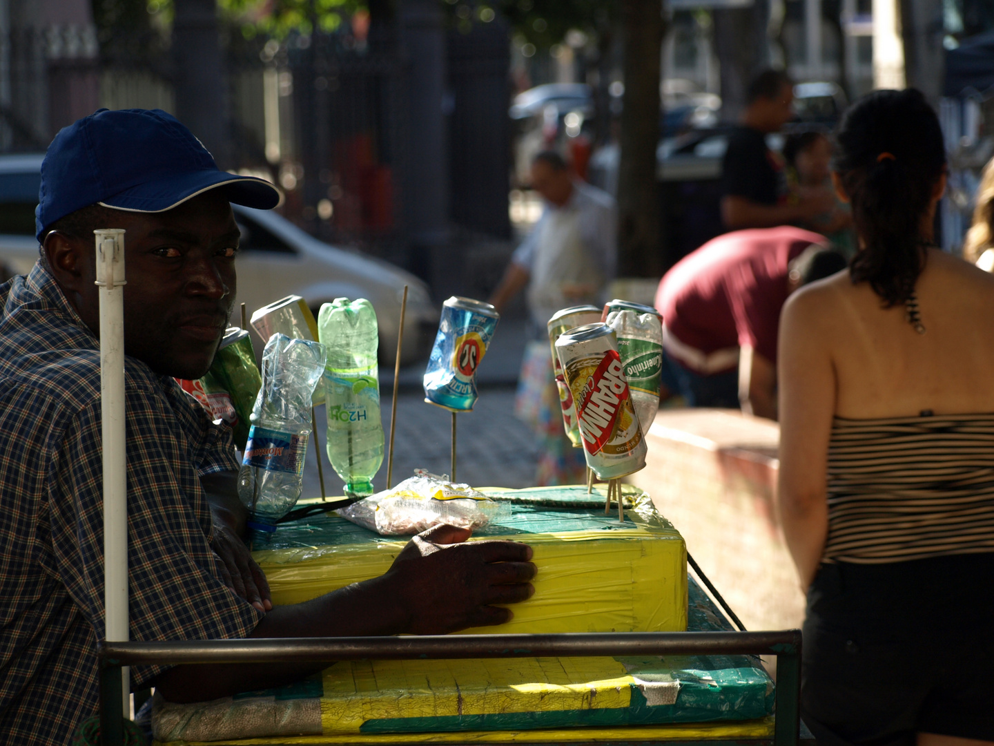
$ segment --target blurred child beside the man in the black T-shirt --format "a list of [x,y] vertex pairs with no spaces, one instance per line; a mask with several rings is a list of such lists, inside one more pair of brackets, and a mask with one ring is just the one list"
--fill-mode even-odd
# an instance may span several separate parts
[[[783,143],[783,159],[787,165],[788,199],[797,200],[802,195],[817,190],[834,193],[830,175],[832,143],[822,132],[800,132],[787,136]],[[856,254],[853,234],[853,215],[849,206],[836,199],[831,212],[819,215],[806,225],[798,226],[825,236],[845,258]]]

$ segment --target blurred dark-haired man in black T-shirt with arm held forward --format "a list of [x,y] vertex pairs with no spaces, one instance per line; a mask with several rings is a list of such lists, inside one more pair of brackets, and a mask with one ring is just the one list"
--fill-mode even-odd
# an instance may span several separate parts
[[722,222],[730,230],[796,225],[831,210],[823,191],[802,191],[788,202],[783,161],[766,145],[793,117],[793,84],[780,70],[766,70],[749,85],[742,123],[729,137],[722,161]]

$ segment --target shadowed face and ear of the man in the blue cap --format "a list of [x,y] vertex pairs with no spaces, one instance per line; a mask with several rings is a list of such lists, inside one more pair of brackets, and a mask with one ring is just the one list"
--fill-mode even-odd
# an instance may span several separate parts
[[[239,229],[231,205],[214,189],[167,212],[115,211],[114,217],[106,228],[125,230],[125,353],[157,373],[200,378],[214,360],[235,302]],[[96,332],[93,243],[75,243],[82,252],[79,281],[73,280],[67,295]]]

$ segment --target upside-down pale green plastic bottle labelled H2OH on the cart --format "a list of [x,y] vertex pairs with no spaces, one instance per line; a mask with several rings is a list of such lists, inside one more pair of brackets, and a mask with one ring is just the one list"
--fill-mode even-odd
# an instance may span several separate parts
[[328,354],[328,460],[346,494],[368,496],[383,465],[376,311],[366,298],[335,298],[321,306],[317,329]]

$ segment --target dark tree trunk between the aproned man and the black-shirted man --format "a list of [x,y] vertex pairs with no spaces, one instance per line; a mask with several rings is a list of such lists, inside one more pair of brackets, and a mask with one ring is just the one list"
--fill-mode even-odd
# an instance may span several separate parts
[[624,109],[618,164],[618,277],[662,274],[656,147],[662,0],[623,0]]

